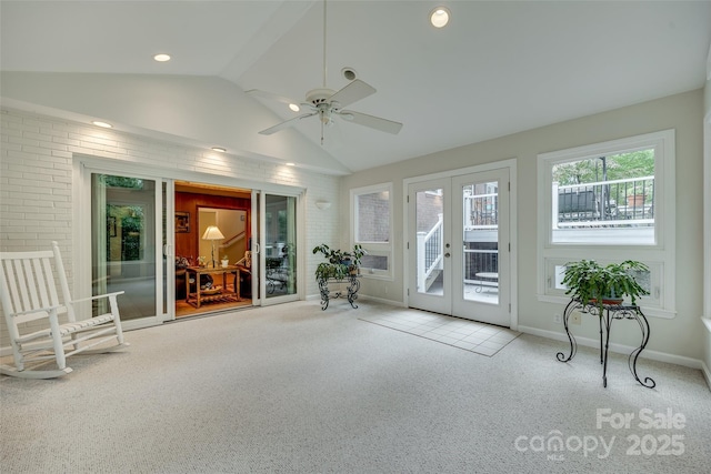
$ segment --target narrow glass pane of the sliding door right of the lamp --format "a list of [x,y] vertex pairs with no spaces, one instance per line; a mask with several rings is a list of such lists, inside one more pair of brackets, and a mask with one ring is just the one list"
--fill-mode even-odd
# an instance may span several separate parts
[[267,194],[264,199],[266,296],[297,293],[297,199]]

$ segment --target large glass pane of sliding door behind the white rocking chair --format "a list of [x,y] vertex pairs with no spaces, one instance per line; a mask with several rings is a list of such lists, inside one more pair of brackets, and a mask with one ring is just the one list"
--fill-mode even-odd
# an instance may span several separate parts
[[92,294],[126,291],[122,320],[154,316],[156,182],[93,173],[91,195]]

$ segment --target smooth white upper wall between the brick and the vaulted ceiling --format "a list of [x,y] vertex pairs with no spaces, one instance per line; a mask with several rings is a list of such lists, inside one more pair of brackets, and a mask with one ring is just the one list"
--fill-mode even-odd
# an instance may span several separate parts
[[[94,118],[121,130],[189,145],[219,145],[241,157],[298,162],[321,173],[348,169],[294,130],[261,135],[280,118],[220,78],[0,71],[4,107]],[[31,104],[31,105],[28,105]],[[40,105],[41,104],[41,105]]]

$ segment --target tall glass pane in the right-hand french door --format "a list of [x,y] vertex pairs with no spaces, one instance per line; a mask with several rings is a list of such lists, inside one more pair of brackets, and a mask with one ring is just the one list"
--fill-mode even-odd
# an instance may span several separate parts
[[499,182],[462,186],[463,297],[499,303]]

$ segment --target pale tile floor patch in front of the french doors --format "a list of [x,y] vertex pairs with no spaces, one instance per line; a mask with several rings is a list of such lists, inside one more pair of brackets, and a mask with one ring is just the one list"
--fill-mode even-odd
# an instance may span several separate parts
[[487,356],[494,355],[521,334],[508,327],[418,310],[360,319]]

